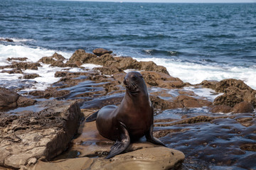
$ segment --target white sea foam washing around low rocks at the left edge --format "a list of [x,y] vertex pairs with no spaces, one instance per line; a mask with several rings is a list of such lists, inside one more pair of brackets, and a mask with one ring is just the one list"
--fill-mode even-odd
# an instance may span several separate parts
[[[21,45],[0,45],[0,65],[8,65],[10,64],[6,59],[8,57],[27,57],[28,62],[37,62],[41,59],[41,57],[51,56],[54,52],[58,52],[58,54],[63,55],[65,58],[69,58],[72,53],[70,52],[60,52],[55,50],[46,50],[40,47],[32,48]],[[23,72],[27,74],[36,73],[39,74],[40,77],[33,79],[36,81],[36,84],[32,84],[31,86],[27,86],[23,91],[32,91],[32,90],[45,90],[50,84],[55,83],[60,78],[54,77],[55,72],[60,71],[63,68],[60,67],[49,67],[48,64],[41,64],[42,67],[38,67],[38,70],[26,69]],[[8,70],[8,69],[6,69]],[[1,72],[1,70],[0,70]],[[8,74],[8,73],[0,73],[0,84],[3,86],[11,87],[18,86],[18,84],[22,81],[22,79],[18,79],[22,77],[23,74]]]

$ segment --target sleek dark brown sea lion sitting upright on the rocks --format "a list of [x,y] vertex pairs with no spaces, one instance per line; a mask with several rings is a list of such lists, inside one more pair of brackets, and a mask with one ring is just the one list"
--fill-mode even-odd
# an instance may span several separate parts
[[129,72],[123,83],[126,92],[120,106],[104,106],[86,119],[87,122],[96,120],[100,135],[116,141],[106,159],[122,153],[131,141],[144,135],[147,141],[165,146],[153,136],[154,108],[142,74]]

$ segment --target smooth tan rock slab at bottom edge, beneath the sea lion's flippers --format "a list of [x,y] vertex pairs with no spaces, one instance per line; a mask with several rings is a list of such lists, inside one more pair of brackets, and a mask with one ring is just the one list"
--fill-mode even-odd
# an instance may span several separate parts
[[175,149],[152,147],[119,154],[112,159],[81,157],[61,159],[55,162],[38,162],[33,170],[80,170],[80,169],[176,169],[185,155]]

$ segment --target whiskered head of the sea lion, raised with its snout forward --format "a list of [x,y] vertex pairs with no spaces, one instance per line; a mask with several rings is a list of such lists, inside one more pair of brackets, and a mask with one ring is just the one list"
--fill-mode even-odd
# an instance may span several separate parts
[[139,94],[140,92],[147,94],[145,81],[142,74],[139,72],[127,73],[127,75],[124,77],[123,83],[130,94]]

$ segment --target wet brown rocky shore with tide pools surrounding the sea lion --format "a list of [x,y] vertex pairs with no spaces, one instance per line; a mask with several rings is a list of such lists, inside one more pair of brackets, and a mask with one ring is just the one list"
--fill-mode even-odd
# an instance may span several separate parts
[[[116,57],[111,51],[76,50],[67,61],[57,53],[38,62],[9,58],[0,72],[23,74],[41,64],[63,68],[45,91],[0,88],[0,166],[9,169],[241,169],[256,167],[256,91],[237,79],[189,84],[154,62]],[[86,69],[84,64],[102,67]],[[80,72],[72,72],[79,68]],[[155,109],[154,136],[169,148],[142,139],[126,153],[104,159],[113,141],[84,118],[124,96],[122,79],[141,72]],[[208,91],[208,95],[202,93]],[[172,149],[170,149],[172,148]],[[176,150],[177,149],[177,150]],[[154,153],[154,154],[153,154]],[[185,156],[186,156],[186,159]],[[1,168],[0,168],[1,169]]]

